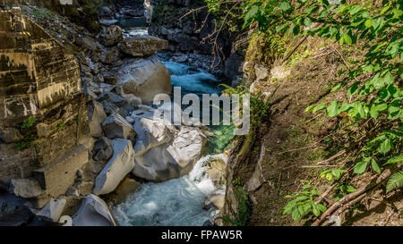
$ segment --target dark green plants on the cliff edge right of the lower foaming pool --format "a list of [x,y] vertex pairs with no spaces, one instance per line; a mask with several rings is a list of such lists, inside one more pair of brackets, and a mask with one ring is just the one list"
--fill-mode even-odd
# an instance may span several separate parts
[[234,195],[237,201],[237,209],[234,219],[229,218],[228,216],[222,216],[218,219],[222,219],[224,223],[231,223],[235,226],[244,226],[250,218],[248,195],[242,187],[234,189]]

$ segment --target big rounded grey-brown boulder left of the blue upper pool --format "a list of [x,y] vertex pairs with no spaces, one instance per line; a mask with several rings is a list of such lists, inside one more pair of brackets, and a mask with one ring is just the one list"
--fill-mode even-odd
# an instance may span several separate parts
[[119,74],[116,86],[121,87],[124,94],[140,97],[143,103],[152,102],[158,94],[172,92],[170,74],[157,56],[128,60]]

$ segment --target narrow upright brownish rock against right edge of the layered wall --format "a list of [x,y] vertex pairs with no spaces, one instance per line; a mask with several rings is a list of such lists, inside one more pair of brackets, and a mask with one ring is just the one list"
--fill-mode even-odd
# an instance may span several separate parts
[[102,136],[101,123],[107,119],[104,107],[97,101],[91,101],[88,105],[88,118],[90,125],[90,135],[94,138]]

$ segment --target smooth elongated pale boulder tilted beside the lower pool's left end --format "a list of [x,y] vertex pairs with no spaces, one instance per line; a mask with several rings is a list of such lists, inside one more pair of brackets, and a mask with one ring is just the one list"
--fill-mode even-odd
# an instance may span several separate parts
[[104,169],[95,180],[94,194],[108,194],[116,189],[120,181],[133,170],[134,150],[130,140],[112,140],[114,156],[109,160]]

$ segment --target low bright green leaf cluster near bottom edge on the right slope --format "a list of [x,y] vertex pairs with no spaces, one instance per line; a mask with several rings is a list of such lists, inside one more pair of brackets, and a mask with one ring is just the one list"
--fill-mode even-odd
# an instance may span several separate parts
[[321,215],[327,208],[320,203],[315,203],[314,198],[318,197],[319,194],[318,189],[310,184],[305,184],[302,191],[296,191],[292,196],[286,196],[292,200],[284,207],[283,215],[291,215],[294,221],[301,221],[304,216],[309,214]]

